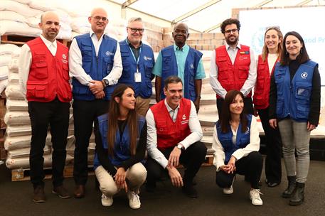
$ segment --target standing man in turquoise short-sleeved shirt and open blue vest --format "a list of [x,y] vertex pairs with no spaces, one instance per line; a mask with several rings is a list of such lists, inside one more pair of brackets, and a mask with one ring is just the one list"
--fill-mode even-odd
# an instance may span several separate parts
[[160,51],[152,72],[156,75],[156,102],[165,98],[164,80],[176,75],[183,82],[183,96],[193,101],[198,112],[202,79],[206,77],[201,60],[203,54],[186,44],[186,39],[190,35],[186,23],[177,23],[172,35],[175,44]]

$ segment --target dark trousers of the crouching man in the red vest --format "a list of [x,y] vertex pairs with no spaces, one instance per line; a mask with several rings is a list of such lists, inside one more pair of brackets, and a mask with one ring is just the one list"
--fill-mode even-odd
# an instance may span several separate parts
[[[169,158],[171,151],[173,151],[174,147],[166,148],[164,151],[161,151],[165,158]],[[204,162],[206,158],[206,146],[201,143],[201,141],[197,141],[192,144],[186,150],[181,151],[181,156],[179,158],[179,163],[181,163],[186,170],[184,171],[183,183],[191,184],[193,182],[193,178],[198,173],[198,170],[201,167],[201,164]],[[157,161],[148,157],[146,161],[146,182],[148,185],[156,185],[156,181],[159,180],[163,173],[168,175],[168,171],[163,168]]]

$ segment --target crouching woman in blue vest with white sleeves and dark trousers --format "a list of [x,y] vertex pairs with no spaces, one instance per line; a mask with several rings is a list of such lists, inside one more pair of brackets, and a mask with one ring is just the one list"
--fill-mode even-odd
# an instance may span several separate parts
[[252,205],[262,205],[258,182],[263,159],[258,152],[260,137],[257,121],[251,114],[245,114],[243,109],[243,93],[238,90],[227,92],[223,112],[213,131],[213,165],[217,171],[215,182],[223,188],[224,194],[231,194],[235,174],[245,175],[250,180]]

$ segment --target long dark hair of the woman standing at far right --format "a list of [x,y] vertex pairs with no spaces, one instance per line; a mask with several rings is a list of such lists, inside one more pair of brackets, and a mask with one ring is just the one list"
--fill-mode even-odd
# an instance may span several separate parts
[[304,45],[304,39],[302,39],[302,36],[299,35],[299,33],[297,33],[296,31],[289,31],[288,33],[285,34],[284,38],[283,38],[283,49],[282,49],[282,53],[281,53],[281,59],[280,59],[280,65],[289,65],[289,53],[287,52],[287,48],[285,46],[285,41],[287,40],[287,36],[294,36],[296,38],[298,38],[298,40],[300,41],[300,43],[302,43],[302,48],[300,49],[300,53],[297,56],[297,61],[299,62],[299,64],[305,63],[307,62],[307,60],[309,60],[309,55],[307,53],[306,50],[306,46]]

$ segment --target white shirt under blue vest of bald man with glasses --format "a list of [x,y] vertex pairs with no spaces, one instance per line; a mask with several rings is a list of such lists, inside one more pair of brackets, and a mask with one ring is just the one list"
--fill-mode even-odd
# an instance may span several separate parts
[[[100,40],[98,40],[96,34],[93,31],[90,31],[90,37],[92,39],[92,44],[95,47],[96,56],[98,55],[98,50],[100,50],[100,45],[102,44],[103,36],[104,34],[100,37]],[[87,75],[85,70],[83,70],[82,68],[82,55],[75,38],[73,39],[73,42],[70,45],[69,68],[70,77],[75,77],[82,85],[89,85],[89,82],[93,81],[92,77],[90,77],[90,75]],[[114,55],[113,68],[110,74],[104,77],[103,79],[107,79],[110,85],[116,85],[117,81],[119,80],[119,77],[121,77],[122,75],[122,70],[123,68],[121,52],[119,50],[119,43],[117,43],[117,48]]]

